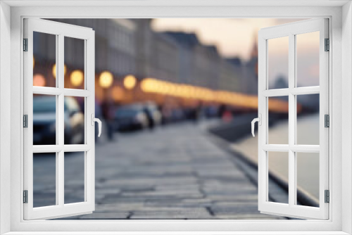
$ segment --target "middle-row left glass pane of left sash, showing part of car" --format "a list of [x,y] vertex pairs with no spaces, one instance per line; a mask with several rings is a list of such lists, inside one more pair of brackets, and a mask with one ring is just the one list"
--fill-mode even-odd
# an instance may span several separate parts
[[56,96],[33,95],[33,144],[56,144]]

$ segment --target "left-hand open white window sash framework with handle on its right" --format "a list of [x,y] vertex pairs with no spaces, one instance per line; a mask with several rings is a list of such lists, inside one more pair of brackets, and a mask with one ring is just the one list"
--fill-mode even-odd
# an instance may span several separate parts
[[[55,35],[56,37],[56,87],[34,87],[34,40],[33,32]],[[87,27],[57,23],[50,20],[27,18],[24,20],[23,34],[24,64],[24,107],[27,115],[27,128],[24,135],[24,220],[45,220],[92,213],[95,208],[94,193],[94,30]],[[71,37],[84,41],[84,89],[64,87],[64,38]],[[56,144],[33,145],[33,95],[56,97]],[[65,96],[79,96],[84,106],[84,144],[65,144],[64,115]],[[92,121],[93,119],[93,121]],[[65,204],[65,152],[84,152],[84,201]],[[33,153],[56,154],[56,203],[55,205],[33,206]],[[43,176],[45,177],[45,176]],[[73,179],[74,180],[74,179]]]

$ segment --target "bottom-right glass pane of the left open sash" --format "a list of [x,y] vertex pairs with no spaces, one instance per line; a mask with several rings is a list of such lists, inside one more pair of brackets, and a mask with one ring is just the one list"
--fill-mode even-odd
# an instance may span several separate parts
[[65,204],[84,202],[84,152],[65,153]]

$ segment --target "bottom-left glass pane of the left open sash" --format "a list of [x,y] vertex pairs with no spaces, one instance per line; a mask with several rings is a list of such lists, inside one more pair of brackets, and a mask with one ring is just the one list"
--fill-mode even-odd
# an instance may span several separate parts
[[56,205],[56,153],[33,153],[33,207]]

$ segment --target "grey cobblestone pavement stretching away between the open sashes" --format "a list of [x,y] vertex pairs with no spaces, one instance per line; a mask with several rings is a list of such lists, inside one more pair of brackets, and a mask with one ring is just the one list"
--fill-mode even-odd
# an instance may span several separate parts
[[[96,210],[70,219],[284,219],[258,212],[256,184],[197,125],[115,137],[96,144]],[[79,158],[71,153],[65,160],[73,167]],[[65,202],[84,195],[82,167],[73,169],[65,171]]]

